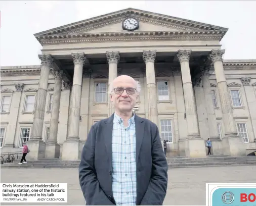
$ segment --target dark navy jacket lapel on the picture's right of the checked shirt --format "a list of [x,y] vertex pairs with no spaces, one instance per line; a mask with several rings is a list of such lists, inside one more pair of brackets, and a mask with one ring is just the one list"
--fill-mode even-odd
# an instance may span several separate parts
[[144,137],[145,122],[142,118],[135,115],[135,132],[136,132],[136,165],[138,163],[142,140]]

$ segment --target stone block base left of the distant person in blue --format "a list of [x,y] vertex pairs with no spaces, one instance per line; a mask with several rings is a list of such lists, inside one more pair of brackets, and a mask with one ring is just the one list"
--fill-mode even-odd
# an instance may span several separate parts
[[186,142],[186,156],[190,158],[206,157],[205,143],[202,138],[189,138]]

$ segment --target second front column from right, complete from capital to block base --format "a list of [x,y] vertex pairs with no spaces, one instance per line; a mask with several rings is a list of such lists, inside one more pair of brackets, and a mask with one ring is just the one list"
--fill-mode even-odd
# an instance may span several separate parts
[[204,157],[205,144],[200,137],[198,128],[198,118],[196,114],[195,96],[193,92],[192,80],[189,68],[189,58],[191,50],[179,50],[177,57],[181,64],[182,84],[186,109],[186,120],[188,129],[188,147],[186,149],[189,157]]

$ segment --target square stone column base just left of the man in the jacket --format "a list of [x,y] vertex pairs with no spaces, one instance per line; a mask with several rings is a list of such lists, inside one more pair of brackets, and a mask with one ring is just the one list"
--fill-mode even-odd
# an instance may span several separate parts
[[63,142],[61,160],[81,159],[82,142],[79,139],[67,139]]

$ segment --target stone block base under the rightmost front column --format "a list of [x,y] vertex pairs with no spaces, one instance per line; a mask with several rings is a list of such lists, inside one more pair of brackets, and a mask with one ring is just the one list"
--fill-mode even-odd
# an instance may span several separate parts
[[224,155],[246,156],[246,148],[243,138],[237,135],[227,135],[222,140]]

